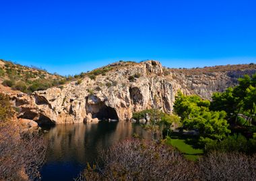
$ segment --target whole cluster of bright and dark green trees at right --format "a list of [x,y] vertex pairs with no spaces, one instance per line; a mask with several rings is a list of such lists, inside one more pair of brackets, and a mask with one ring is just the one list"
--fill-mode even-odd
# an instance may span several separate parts
[[[181,117],[184,129],[199,132],[199,142],[205,144],[206,152],[253,154],[256,152],[255,87],[256,74],[239,78],[237,86],[229,87],[223,93],[214,93],[211,102],[179,92],[174,112]],[[239,134],[234,134],[236,132]]]

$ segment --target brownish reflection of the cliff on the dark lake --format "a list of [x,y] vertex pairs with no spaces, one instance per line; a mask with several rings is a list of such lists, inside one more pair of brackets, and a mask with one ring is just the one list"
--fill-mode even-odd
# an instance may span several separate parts
[[55,125],[44,135],[49,140],[46,164],[75,162],[84,165],[93,162],[103,149],[132,137],[133,133],[150,137],[150,133],[139,125],[125,121]]

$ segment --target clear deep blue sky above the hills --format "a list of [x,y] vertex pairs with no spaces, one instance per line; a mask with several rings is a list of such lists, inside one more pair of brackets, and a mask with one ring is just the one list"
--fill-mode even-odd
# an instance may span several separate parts
[[0,0],[0,58],[77,74],[117,60],[256,62],[256,1]]

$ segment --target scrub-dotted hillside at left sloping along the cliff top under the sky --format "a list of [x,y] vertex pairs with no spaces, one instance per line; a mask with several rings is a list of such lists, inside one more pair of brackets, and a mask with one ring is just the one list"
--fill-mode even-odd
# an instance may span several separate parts
[[[81,72],[74,76],[60,76],[58,74],[50,74],[49,72],[46,72],[46,70],[36,68],[35,66],[22,66],[5,60],[0,60],[0,62],[3,62],[3,65],[0,64],[1,84],[24,93],[43,91],[53,86],[61,88],[63,87],[63,84],[71,81],[77,81],[77,84],[80,84],[82,82],[82,78],[85,78],[86,76],[92,80],[96,80],[97,76],[106,76],[106,73],[111,70],[117,70],[121,67],[136,64],[135,62],[124,62],[121,60],[90,72]],[[140,76],[140,74],[136,74],[135,76]]]

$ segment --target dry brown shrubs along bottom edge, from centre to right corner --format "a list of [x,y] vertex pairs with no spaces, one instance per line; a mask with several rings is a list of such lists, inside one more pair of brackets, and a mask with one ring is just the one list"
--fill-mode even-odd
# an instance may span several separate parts
[[256,156],[210,152],[192,162],[162,141],[129,139],[102,152],[76,180],[256,180]]

